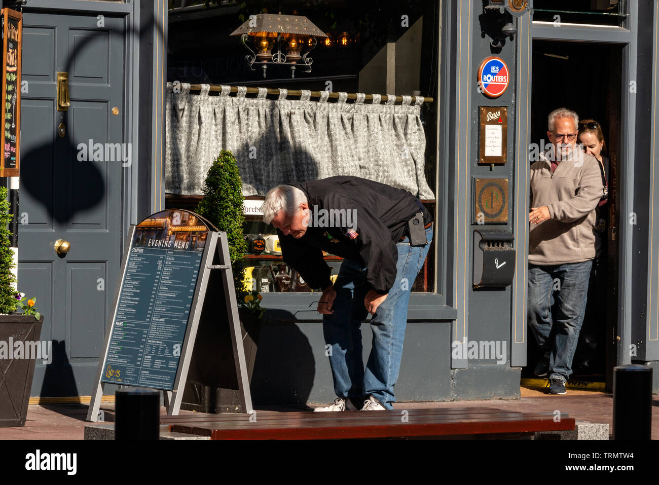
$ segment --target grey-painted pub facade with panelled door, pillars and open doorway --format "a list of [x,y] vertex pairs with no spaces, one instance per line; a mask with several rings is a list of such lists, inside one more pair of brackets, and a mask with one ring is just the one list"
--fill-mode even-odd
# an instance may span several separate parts
[[[598,121],[610,160],[604,270],[588,293],[569,384],[611,391],[613,368],[639,362],[654,368],[659,392],[659,1],[197,4],[20,6],[28,90],[20,100],[17,213],[27,219],[17,225],[18,287],[36,295],[41,339],[53,342],[53,362],[36,366],[32,402],[91,395],[130,225],[168,208],[194,210],[200,198],[166,189],[167,82],[176,81],[189,83],[190,93],[198,84],[325,91],[329,81],[332,92],[432,98],[420,119],[434,194],[422,202],[435,233],[410,299],[398,401],[514,399],[521,383],[533,384],[529,154],[548,143],[547,115],[556,107]],[[331,34],[335,45],[312,51],[312,72],[297,69],[290,78],[268,68],[264,78],[246,69],[239,38],[229,34],[277,5]],[[349,45],[341,50],[341,43]],[[58,91],[64,72],[67,109]],[[125,151],[95,159],[98,143]],[[262,196],[248,197],[250,206]],[[258,224],[248,215],[246,234],[268,235]],[[252,258],[259,275],[267,271],[258,264],[279,261],[265,239],[272,257]],[[58,254],[58,240],[69,242],[68,252]],[[328,257],[328,264],[335,274],[340,261]],[[320,293],[268,290],[254,405],[331,402],[321,316],[301,313]],[[362,338],[368,356],[367,324]]]

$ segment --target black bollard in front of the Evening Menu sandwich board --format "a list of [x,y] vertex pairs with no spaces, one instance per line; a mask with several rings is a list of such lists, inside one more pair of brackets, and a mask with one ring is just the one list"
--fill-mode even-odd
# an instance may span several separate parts
[[160,392],[128,387],[115,393],[115,440],[160,439]]

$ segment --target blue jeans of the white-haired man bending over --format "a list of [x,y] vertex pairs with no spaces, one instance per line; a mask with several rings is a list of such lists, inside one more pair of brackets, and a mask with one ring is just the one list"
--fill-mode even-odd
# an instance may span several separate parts
[[370,320],[373,341],[365,371],[360,327],[368,316],[364,306],[364,298],[370,291],[366,268],[353,260],[345,259],[341,263],[334,283],[334,312],[323,315],[323,333],[325,343],[331,345],[329,365],[338,397],[361,403],[364,397],[373,395],[386,409],[393,409],[391,403],[396,400],[393,386],[403,357],[407,304],[416,275],[430,249],[432,226],[426,229],[426,237],[428,244],[425,246],[410,246],[407,237],[396,244],[396,280]]

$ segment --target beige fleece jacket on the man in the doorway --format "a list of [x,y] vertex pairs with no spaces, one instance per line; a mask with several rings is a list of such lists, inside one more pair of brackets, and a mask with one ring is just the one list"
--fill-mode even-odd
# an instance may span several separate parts
[[547,206],[550,219],[530,224],[529,262],[542,266],[592,260],[595,208],[604,194],[598,161],[575,148],[552,174],[552,150],[531,165],[530,207]]

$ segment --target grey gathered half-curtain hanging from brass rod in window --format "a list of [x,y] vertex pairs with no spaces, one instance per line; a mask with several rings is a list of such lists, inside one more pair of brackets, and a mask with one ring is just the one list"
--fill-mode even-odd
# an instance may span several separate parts
[[243,194],[265,195],[270,188],[293,181],[355,175],[404,188],[422,199],[434,199],[424,176],[426,138],[420,121],[417,97],[403,96],[394,105],[389,96],[381,104],[374,94],[372,104],[364,94],[346,103],[339,93],[337,103],[310,101],[310,91],[300,100],[266,99],[266,88],[257,98],[246,98],[246,88],[229,96],[222,86],[219,96],[189,94],[190,85],[172,92],[167,83],[166,191],[171,194],[202,194],[206,173],[221,150],[231,150],[243,179]]

